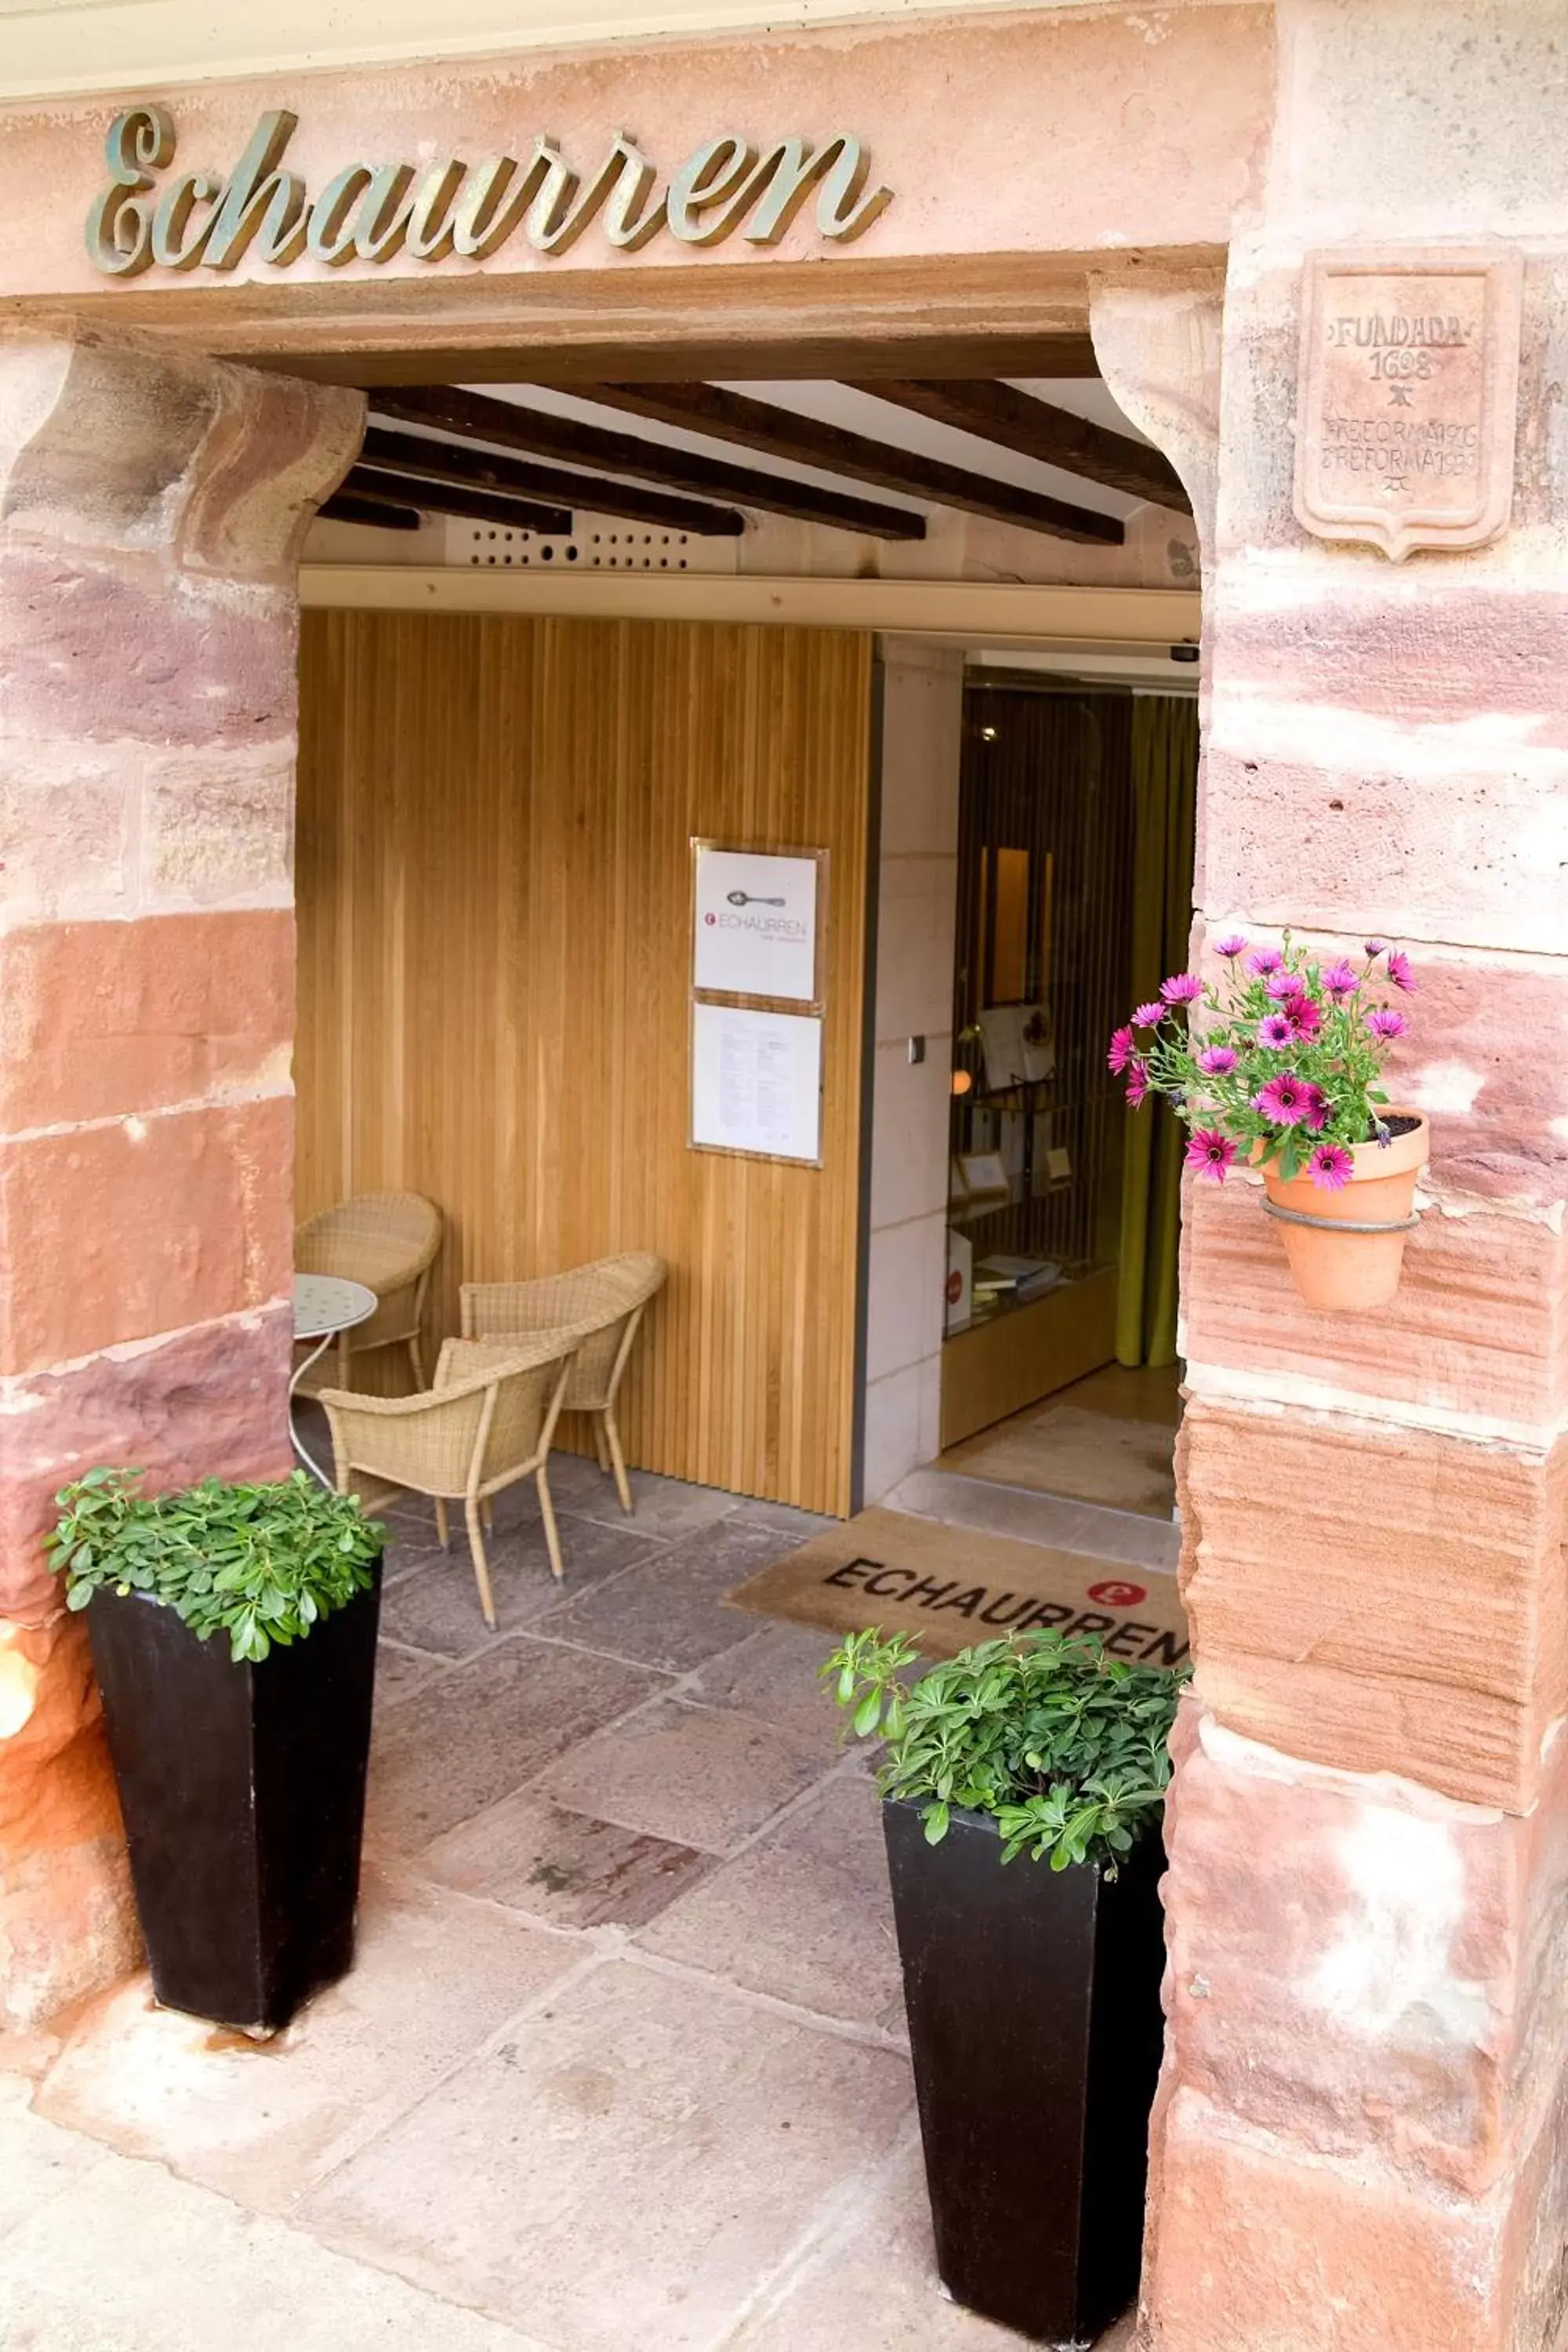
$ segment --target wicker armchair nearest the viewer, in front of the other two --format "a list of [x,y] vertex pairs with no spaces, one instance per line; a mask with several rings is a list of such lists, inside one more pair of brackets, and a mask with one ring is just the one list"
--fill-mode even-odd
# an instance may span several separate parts
[[463,1503],[468,1548],[484,1623],[496,1623],[484,1524],[489,1498],[531,1477],[545,1522],[550,1571],[559,1581],[562,1543],[550,1503],[550,1439],[571,1376],[581,1331],[496,1345],[449,1338],[435,1367],[435,1388],[418,1397],[362,1397],[324,1388],[339,1494],[355,1470],[435,1498],[435,1524],[447,1543],[447,1503]]

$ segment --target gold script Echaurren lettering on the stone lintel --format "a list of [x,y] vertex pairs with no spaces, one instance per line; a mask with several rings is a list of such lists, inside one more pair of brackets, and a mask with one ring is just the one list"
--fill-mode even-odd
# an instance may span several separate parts
[[891,188],[867,188],[870,158],[849,132],[820,146],[776,139],[752,146],[724,132],[689,155],[658,186],[658,167],[618,132],[592,176],[574,172],[550,139],[527,160],[489,155],[477,165],[350,162],[315,195],[284,151],[299,115],[263,115],[228,176],[174,176],[174,118],[162,106],[115,115],[106,153],[108,186],[87,214],[87,252],[108,278],[165,270],[233,270],[247,252],[284,270],[308,254],[346,261],[484,261],[524,233],[541,254],[564,254],[590,221],[607,240],[637,252],[661,230],[682,245],[719,245],[736,228],[748,245],[778,245],[816,191],[816,226],[844,245],[863,235],[891,202]]

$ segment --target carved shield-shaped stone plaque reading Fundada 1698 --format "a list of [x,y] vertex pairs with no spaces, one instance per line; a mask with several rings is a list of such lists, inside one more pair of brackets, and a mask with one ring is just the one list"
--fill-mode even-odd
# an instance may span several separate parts
[[1481,548],[1514,503],[1519,296],[1509,247],[1307,263],[1295,520],[1319,539]]

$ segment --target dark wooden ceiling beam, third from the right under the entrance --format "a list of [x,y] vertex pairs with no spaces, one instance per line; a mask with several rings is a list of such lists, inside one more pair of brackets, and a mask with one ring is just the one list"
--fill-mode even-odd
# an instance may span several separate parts
[[376,409],[404,423],[435,426],[473,440],[498,442],[503,449],[531,449],[545,456],[574,459],[595,473],[630,473],[665,489],[696,489],[708,499],[733,499],[764,515],[790,515],[795,522],[832,522],[839,532],[870,532],[872,539],[924,539],[926,517],[875,499],[851,499],[837,489],[813,489],[809,482],[783,482],[776,473],[750,466],[726,466],[689,449],[665,449],[635,433],[607,433],[581,426],[571,416],[545,416],[543,409],[520,409],[512,400],[489,400],[456,386],[407,386],[378,390]]

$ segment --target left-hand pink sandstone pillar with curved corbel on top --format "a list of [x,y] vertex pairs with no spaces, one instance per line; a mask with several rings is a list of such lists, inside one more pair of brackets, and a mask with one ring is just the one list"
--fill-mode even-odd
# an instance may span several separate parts
[[0,2020],[134,1959],[94,1463],[289,1468],[294,567],[355,393],[0,339]]

